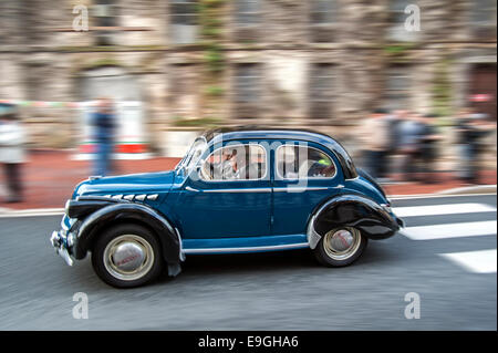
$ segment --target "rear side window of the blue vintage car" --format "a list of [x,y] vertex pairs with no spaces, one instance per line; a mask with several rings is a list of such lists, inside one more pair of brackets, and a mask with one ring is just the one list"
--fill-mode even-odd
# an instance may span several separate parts
[[320,149],[298,145],[277,148],[277,175],[282,179],[332,178],[335,164]]

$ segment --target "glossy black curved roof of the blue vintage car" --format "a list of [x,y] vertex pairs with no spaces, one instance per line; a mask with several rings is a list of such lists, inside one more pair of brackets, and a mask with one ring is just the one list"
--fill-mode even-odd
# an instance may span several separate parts
[[344,147],[329,135],[311,129],[281,128],[281,127],[261,127],[261,126],[235,126],[220,127],[206,131],[201,136],[207,143],[218,144],[222,141],[237,141],[245,138],[261,139],[294,139],[321,144],[332,150],[341,163],[344,177],[352,179],[357,176],[356,168]]

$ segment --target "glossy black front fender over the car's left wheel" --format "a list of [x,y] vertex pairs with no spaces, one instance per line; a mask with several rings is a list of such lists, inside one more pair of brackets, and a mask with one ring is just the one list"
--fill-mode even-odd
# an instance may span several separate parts
[[169,221],[151,207],[134,203],[111,204],[84,218],[77,230],[74,257],[83,259],[98,231],[114,221],[135,221],[146,225],[159,238],[164,258],[168,263],[179,263],[183,260],[181,240]]

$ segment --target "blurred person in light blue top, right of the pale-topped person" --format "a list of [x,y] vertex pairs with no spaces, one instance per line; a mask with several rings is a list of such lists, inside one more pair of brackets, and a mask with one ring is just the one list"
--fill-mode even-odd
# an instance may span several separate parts
[[416,157],[419,153],[422,125],[415,113],[407,113],[398,126],[398,152],[401,155],[401,181],[418,180]]

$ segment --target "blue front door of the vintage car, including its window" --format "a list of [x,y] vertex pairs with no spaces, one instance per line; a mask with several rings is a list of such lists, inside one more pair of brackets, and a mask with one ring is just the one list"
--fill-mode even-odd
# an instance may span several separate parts
[[224,143],[200,160],[176,212],[186,239],[270,233],[269,153],[258,141]]

